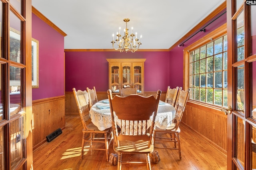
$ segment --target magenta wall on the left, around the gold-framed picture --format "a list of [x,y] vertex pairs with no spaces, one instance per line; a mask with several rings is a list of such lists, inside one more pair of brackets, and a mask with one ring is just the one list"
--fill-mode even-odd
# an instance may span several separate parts
[[64,95],[64,37],[32,14],[32,38],[39,41],[39,88],[32,100]]

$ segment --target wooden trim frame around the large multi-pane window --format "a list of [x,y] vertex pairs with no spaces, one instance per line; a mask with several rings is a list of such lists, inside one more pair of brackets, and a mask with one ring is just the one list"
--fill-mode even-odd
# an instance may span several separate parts
[[[200,38],[198,41],[195,41],[194,43],[190,44],[188,47],[184,48],[183,52],[183,63],[184,63],[184,81],[183,81],[183,87],[184,89],[190,88],[190,52],[195,51],[196,49],[203,47],[204,45],[219,39],[220,37],[226,35],[227,33],[227,25],[224,23],[214,31],[208,33],[204,37]],[[219,109],[222,106],[218,106],[215,104],[209,104],[206,102],[200,102],[197,100],[191,100],[190,98],[188,99],[189,102],[193,102],[195,104],[200,104],[202,106],[214,106],[216,109]]]

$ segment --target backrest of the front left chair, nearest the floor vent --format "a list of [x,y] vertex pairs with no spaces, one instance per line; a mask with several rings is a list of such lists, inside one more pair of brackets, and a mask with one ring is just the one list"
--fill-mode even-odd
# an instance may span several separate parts
[[86,130],[86,129],[88,129],[86,126],[86,122],[88,120],[90,120],[90,116],[89,116],[90,107],[89,107],[88,93],[86,92],[86,90],[84,90],[84,91],[77,90],[76,91],[76,88],[73,88],[73,92],[74,92],[74,97],[76,100],[78,112],[80,114],[80,118],[82,121],[82,125],[83,125],[84,129]]

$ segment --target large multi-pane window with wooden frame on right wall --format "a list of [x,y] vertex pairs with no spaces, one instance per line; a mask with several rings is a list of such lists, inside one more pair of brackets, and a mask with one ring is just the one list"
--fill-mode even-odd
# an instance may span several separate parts
[[[218,31],[218,30],[222,31]],[[224,25],[186,49],[188,72],[185,87],[190,100],[216,106],[227,106],[227,35]]]

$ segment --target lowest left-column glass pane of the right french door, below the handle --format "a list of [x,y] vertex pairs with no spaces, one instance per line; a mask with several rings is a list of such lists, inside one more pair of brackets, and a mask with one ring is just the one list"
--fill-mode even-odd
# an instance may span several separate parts
[[239,162],[244,165],[244,156],[245,156],[245,143],[244,143],[244,121],[237,117],[236,122],[236,134],[235,134],[235,142],[236,142],[236,153],[235,157],[239,160]]

